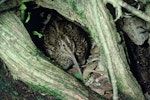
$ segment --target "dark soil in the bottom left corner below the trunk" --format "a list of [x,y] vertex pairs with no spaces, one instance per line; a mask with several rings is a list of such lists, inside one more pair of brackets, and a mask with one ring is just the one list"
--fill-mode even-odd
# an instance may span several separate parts
[[25,83],[14,80],[0,63],[0,100],[56,100],[53,96],[35,91]]

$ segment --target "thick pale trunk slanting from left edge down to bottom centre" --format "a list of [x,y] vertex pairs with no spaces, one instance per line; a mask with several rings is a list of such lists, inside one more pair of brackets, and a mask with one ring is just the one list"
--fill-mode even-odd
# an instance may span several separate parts
[[62,100],[88,100],[94,93],[41,56],[19,18],[0,14],[0,57],[14,79],[43,89]]

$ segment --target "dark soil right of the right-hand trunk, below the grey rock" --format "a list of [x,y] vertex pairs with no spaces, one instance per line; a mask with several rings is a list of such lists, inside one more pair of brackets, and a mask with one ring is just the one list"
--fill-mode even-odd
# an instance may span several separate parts
[[150,95],[150,46],[146,42],[138,46],[126,36],[131,71],[141,85],[143,93]]

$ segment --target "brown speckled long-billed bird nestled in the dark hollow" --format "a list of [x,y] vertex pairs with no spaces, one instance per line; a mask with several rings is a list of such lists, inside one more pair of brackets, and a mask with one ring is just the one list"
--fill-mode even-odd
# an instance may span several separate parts
[[44,42],[48,55],[63,69],[85,64],[87,41],[84,34],[72,23],[57,20],[48,24],[44,30]]

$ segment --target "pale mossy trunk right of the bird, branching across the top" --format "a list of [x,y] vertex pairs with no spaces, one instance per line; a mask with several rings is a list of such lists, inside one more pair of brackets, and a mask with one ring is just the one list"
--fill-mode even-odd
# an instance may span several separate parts
[[54,9],[72,22],[78,22],[81,27],[87,28],[100,49],[100,62],[110,74],[113,92],[117,92],[117,83],[118,90],[128,96],[128,99],[144,100],[141,87],[130,72],[123,47],[118,44],[120,36],[114,21],[102,0],[36,0],[36,3]]

